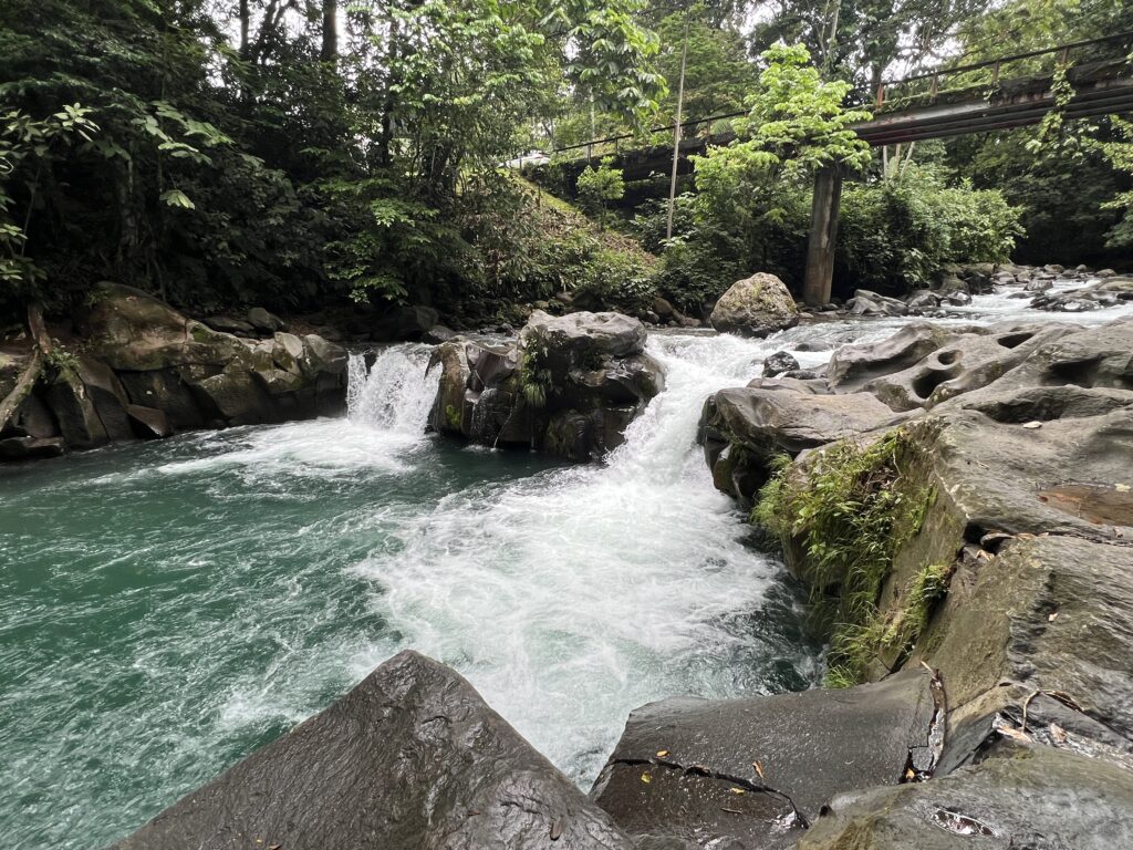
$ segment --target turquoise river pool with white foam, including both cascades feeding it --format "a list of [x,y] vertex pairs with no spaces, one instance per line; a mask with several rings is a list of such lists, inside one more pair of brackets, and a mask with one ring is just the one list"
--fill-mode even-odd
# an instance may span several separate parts
[[692,445],[766,350],[650,345],[670,389],[605,467],[423,436],[416,348],[349,419],[0,467],[0,844],[104,847],[406,646],[583,785],[637,705],[812,682]]

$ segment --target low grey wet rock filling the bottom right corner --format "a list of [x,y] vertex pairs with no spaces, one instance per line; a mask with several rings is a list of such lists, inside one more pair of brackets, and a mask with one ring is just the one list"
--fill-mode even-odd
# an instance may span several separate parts
[[930,782],[837,799],[799,850],[1110,850],[1133,847],[1133,773],[1003,743]]

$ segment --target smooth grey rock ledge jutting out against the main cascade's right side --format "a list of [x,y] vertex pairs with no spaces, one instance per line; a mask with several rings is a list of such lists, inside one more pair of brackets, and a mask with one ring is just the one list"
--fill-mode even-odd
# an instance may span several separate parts
[[[721,390],[708,398],[697,441],[704,447],[717,488],[750,501],[770,477],[777,456],[795,457],[894,420],[894,413],[869,393],[820,396],[746,386]],[[717,469],[721,462],[724,466]]]

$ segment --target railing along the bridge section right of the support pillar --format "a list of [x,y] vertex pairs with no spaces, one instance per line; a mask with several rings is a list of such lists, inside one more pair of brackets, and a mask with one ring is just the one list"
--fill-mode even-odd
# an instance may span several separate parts
[[874,112],[884,114],[973,96],[1010,94],[1024,83],[1053,78],[1060,69],[1127,65],[1131,53],[1133,31],[940,68],[881,83],[875,92]]

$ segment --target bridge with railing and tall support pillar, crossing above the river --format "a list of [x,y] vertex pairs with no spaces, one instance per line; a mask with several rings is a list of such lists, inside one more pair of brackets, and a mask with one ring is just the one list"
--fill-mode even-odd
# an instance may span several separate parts
[[[1131,112],[1131,51],[1133,32],[1125,32],[885,82],[870,97],[874,118],[853,129],[871,146],[880,147],[1036,125],[1056,108],[1066,118]],[[1077,57],[1082,60],[1075,63]],[[866,100],[859,95],[859,101]],[[667,171],[674,158],[676,171],[688,173],[692,170],[690,156],[735,138],[731,129],[714,134],[713,128],[743,114],[709,116],[650,130],[673,134],[675,144],[625,150],[623,145],[640,137],[624,134],[552,153],[568,158],[562,164],[571,179],[606,156],[613,158],[613,165],[628,181]],[[522,160],[519,163],[522,167]],[[816,177],[802,288],[809,305],[830,299],[843,177],[835,167],[823,169]]]

